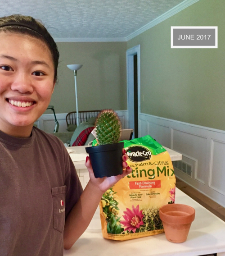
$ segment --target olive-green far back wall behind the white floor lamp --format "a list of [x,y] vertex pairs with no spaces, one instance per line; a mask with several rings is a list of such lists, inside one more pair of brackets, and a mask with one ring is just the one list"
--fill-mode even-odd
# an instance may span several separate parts
[[83,64],[76,76],[79,111],[127,109],[127,42],[58,42],[57,45],[58,84],[50,102],[56,113],[76,110],[74,74],[67,64]]

